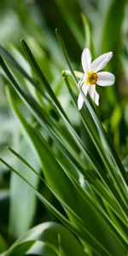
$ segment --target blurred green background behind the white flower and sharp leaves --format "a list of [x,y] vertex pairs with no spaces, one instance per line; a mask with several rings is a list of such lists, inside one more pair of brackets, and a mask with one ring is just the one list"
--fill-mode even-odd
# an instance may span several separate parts
[[[70,102],[61,71],[67,69],[55,37],[55,28],[59,28],[67,46],[67,52],[75,70],[82,70],[81,53],[88,46],[85,37],[84,18],[89,22],[93,41],[93,57],[113,51],[113,60],[108,65],[116,78],[112,87],[100,93],[100,107],[96,108],[102,124],[108,131],[121,159],[128,152],[128,2],[125,0],[4,0],[0,1],[0,44],[15,57],[20,65],[31,73],[30,67],[22,56],[20,38],[26,39],[38,63],[42,67],[56,96],[61,101],[76,130],[81,132],[79,117],[76,116]],[[2,72],[0,70],[0,72]],[[19,75],[19,79],[20,75]],[[17,148],[20,154],[27,153],[32,160],[32,149],[20,133],[9,103],[7,102],[5,81],[0,76],[0,154],[14,164],[14,158],[8,153],[7,145]],[[49,106],[48,106],[49,107]],[[23,109],[24,111],[24,109]],[[28,113],[26,118],[31,119]],[[18,163],[15,163],[18,165]],[[38,166],[35,162],[33,165]],[[0,252],[10,246],[22,233],[35,224],[53,219],[26,186],[25,195],[30,195],[31,207],[26,209],[28,218],[24,222],[24,207],[19,207],[17,217],[14,212],[18,201],[15,190],[15,177],[9,170],[0,166]],[[39,184],[37,183],[37,186]],[[47,191],[43,193],[47,197]],[[21,195],[23,196],[23,195]],[[53,199],[50,198],[52,201]],[[55,200],[55,199],[54,199]],[[26,208],[26,206],[25,206]],[[31,212],[31,213],[30,213]],[[16,214],[15,214],[16,216]]]

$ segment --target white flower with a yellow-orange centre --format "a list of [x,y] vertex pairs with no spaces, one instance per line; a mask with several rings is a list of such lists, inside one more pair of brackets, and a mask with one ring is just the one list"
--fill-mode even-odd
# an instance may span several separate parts
[[[79,86],[82,88],[84,95],[90,94],[90,97],[96,105],[99,105],[99,95],[96,92],[96,84],[100,86],[108,86],[114,84],[115,78],[112,73],[109,72],[99,72],[104,68],[108,61],[113,57],[112,51],[105,53],[95,61],[91,62],[90,49],[85,48],[83,50],[81,61],[84,73],[81,74],[81,79],[79,80]],[[79,93],[78,98],[78,108],[81,109],[84,103],[83,96]]]

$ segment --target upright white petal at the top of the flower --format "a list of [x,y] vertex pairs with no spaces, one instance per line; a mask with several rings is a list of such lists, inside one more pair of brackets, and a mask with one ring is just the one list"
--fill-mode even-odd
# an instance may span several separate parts
[[84,48],[82,55],[81,55],[81,62],[84,72],[90,71],[90,64],[91,64],[91,54],[90,49]]

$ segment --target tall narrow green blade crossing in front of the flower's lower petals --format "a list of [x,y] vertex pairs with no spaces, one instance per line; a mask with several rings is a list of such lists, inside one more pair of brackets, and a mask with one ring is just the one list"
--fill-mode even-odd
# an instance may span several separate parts
[[[61,38],[61,34],[60,34],[60,32],[58,32],[58,30],[56,30],[56,34],[57,34],[57,38],[58,38],[58,40],[59,40],[59,42],[60,42],[60,44],[61,44],[61,49],[62,49],[62,51],[63,51],[63,53],[64,53],[64,55],[65,55],[65,58],[66,58],[66,60],[67,60],[67,65],[68,65],[68,67],[69,67],[71,73],[73,74],[73,79],[74,79],[74,81],[75,81],[75,83],[76,83],[76,85],[77,85],[77,87],[78,87],[77,79],[76,79],[75,74],[74,74],[74,72],[73,72],[73,68],[71,67],[71,64],[70,64],[70,62],[69,62],[69,60],[68,60],[67,50],[66,50],[65,45],[64,45],[64,43],[63,43],[63,40],[62,40],[62,38]],[[106,166],[106,168],[107,168],[107,170],[108,170],[108,173],[109,173],[109,175],[110,175],[110,176],[112,177],[112,179],[113,179],[113,183],[115,183],[115,185],[116,185],[116,189],[118,190],[118,193],[119,193],[119,196],[120,196],[121,201],[124,201],[124,203],[122,204],[122,206],[124,206],[124,205],[127,206],[127,203],[126,203],[126,201],[127,201],[127,196],[126,196],[126,190],[125,190],[125,189],[127,188],[127,186],[126,186],[126,184],[125,184],[125,182],[127,181],[127,177],[126,177],[126,175],[125,175],[124,167],[122,166],[122,164],[121,164],[121,162],[120,162],[120,160],[119,160],[119,158],[118,158],[118,155],[116,154],[115,150],[113,149],[113,146],[112,146],[111,143],[109,142],[108,136],[107,136],[106,132],[103,130],[103,127],[102,127],[100,121],[97,119],[96,113],[95,113],[94,110],[91,108],[90,103],[87,101],[86,97],[84,96],[83,91],[82,91],[80,88],[78,88],[78,89],[79,89],[79,92],[80,92],[80,93],[82,94],[82,96],[84,97],[84,102],[85,102],[87,108],[89,109],[89,113],[91,114],[91,115],[90,115],[90,120],[92,119],[91,125],[92,125],[92,127],[93,127],[94,125],[96,125],[96,126],[95,126],[96,128],[93,129],[93,130],[91,129],[91,131],[90,131],[91,126],[88,127],[87,122],[84,121],[85,128],[87,129],[87,131],[88,131],[89,134],[90,134],[90,137],[92,138],[93,142],[95,143],[96,148],[97,148],[99,154],[101,155],[101,157],[102,157],[102,159],[103,159],[103,161],[104,161],[104,164],[105,164],[105,166]],[[80,113],[82,113],[82,111],[80,111]],[[85,119],[85,120],[86,120],[86,119]],[[96,130],[98,130],[98,133],[100,133],[100,136],[101,136],[101,139],[102,139],[102,143],[104,144],[103,146],[105,146],[106,149],[108,148],[108,155],[109,155],[109,158],[108,158],[108,157],[106,156],[106,154],[104,154],[104,152],[102,151],[102,148],[101,148],[101,145],[100,145],[101,142],[99,143],[99,137],[97,137],[97,139],[96,139],[96,136],[93,136],[93,132],[96,131]],[[98,133],[97,133],[97,134],[98,134]],[[95,135],[96,135],[96,133],[95,133]],[[112,160],[111,160],[111,159],[112,159]],[[116,166],[116,167],[115,167],[115,166]],[[118,170],[119,170],[119,174],[120,174],[121,180],[123,181],[123,183],[124,183],[124,185],[125,185],[125,189],[122,188],[122,187],[119,185],[119,184],[120,184],[120,178],[118,177],[119,174],[117,174],[117,168],[118,168]],[[119,187],[120,187],[120,188],[119,188]],[[119,190],[119,189],[121,190],[121,193],[120,193],[120,190]],[[126,207],[125,207],[125,210],[127,211]]]

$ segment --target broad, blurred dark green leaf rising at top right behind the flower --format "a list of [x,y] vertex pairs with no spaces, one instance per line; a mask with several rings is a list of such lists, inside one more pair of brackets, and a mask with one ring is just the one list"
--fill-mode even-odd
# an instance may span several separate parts
[[[119,82],[120,82],[120,49],[123,48],[122,42],[122,25],[125,16],[125,6],[127,0],[113,0],[108,14],[105,20],[105,24],[102,32],[102,51],[107,52],[113,50],[113,60],[109,64],[111,66],[111,71],[114,73],[116,78],[115,90],[110,88],[109,95],[113,96],[113,106],[115,106],[115,100],[119,102]],[[122,72],[123,73],[123,72]],[[113,95],[114,91],[114,95]],[[112,97],[111,96],[111,97]],[[115,99],[116,96],[116,99]],[[110,98],[110,96],[109,96]]]

